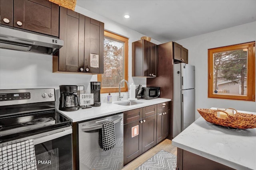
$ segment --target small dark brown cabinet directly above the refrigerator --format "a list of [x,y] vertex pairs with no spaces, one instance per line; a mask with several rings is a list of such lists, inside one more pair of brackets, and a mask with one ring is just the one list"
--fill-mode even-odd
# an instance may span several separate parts
[[184,47],[182,47],[182,45],[175,42],[173,42],[173,47],[174,47],[173,59],[181,61],[182,63],[188,64],[188,49],[185,49]]

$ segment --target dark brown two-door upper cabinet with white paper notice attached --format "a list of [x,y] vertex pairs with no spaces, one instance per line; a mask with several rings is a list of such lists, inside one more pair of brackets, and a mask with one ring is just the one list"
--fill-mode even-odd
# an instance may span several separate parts
[[53,56],[53,72],[104,72],[104,23],[60,7],[60,39],[64,46]]

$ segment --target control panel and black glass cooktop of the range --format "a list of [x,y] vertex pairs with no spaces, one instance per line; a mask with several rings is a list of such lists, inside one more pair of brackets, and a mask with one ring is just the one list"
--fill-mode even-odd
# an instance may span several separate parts
[[0,94],[0,143],[72,125],[55,109],[54,88],[0,90]]

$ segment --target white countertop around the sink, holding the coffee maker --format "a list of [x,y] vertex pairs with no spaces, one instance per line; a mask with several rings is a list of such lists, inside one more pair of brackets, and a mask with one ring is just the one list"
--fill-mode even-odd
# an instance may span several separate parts
[[124,101],[129,101],[129,100],[116,101],[116,102],[112,102],[111,104],[101,103],[101,106],[91,107],[87,109],[79,109],[77,111],[58,110],[58,112],[68,117],[72,122],[77,122],[77,121],[84,121],[88,119],[94,119],[94,118],[102,117],[106,115],[111,115],[114,113],[120,113],[123,111],[132,110],[132,109],[138,109],[140,107],[160,104],[160,103],[168,102],[171,100],[165,99],[165,98],[156,98],[151,100],[140,99],[140,100],[136,100],[136,102],[143,102],[142,104],[136,104],[132,106],[121,106],[121,105],[115,104],[115,103],[124,102]]

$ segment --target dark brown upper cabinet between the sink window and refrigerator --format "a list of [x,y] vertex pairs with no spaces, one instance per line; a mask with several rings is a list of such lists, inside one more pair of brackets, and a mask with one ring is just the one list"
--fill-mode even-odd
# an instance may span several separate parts
[[157,45],[144,39],[132,43],[132,76],[158,76]]

